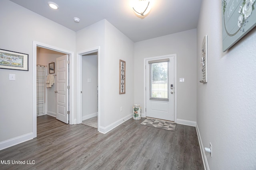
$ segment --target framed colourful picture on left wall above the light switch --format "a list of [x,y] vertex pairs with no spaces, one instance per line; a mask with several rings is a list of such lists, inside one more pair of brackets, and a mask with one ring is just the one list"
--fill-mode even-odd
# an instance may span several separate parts
[[28,54],[0,49],[0,68],[28,71]]

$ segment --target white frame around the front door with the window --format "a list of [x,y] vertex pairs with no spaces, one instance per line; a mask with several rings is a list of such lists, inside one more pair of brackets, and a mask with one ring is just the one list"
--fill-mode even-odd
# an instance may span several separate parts
[[174,122],[177,122],[177,54],[162,55],[156,57],[144,58],[144,113],[142,117],[146,117],[146,60],[157,60],[165,57],[174,57]]

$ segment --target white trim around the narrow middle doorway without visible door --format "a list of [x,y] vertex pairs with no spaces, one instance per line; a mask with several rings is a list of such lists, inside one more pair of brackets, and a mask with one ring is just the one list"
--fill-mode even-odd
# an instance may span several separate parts
[[100,46],[76,53],[76,123],[82,123],[82,56],[98,52],[98,131],[100,127]]

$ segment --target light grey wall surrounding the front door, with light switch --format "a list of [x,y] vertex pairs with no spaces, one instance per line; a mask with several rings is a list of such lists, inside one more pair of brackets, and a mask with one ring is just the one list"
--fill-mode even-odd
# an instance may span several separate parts
[[134,102],[144,108],[144,58],[169,54],[177,54],[177,118],[196,121],[196,29],[135,43]]

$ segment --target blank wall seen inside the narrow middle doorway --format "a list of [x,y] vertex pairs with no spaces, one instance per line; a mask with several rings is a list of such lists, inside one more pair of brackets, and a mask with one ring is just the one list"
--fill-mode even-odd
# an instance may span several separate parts
[[[98,54],[82,56],[82,120],[98,115]],[[90,79],[90,80],[88,80]]]

